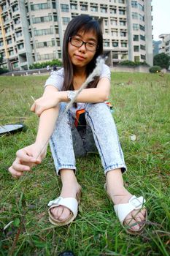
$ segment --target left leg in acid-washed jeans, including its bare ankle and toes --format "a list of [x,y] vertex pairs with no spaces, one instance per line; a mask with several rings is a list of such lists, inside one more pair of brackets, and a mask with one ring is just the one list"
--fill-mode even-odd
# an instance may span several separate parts
[[[75,177],[75,157],[72,143],[72,116],[65,113],[65,104],[61,104],[58,120],[53,135],[50,138],[50,148],[55,162],[57,174],[61,175],[61,197],[76,197],[80,185]],[[63,221],[70,215],[68,208],[58,206],[51,208],[51,214],[55,219]]]

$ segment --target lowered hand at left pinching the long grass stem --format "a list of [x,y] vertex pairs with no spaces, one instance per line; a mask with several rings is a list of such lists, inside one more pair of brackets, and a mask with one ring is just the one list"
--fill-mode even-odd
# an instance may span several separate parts
[[38,165],[45,158],[47,153],[47,147],[43,148],[38,144],[34,143],[26,148],[22,148],[17,151],[16,159],[9,167],[9,173],[12,177],[20,178],[27,171],[31,170],[31,167]]

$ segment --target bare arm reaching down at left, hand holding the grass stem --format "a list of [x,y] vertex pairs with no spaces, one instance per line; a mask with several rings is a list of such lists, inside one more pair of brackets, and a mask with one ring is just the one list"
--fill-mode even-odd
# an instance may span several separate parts
[[[57,89],[55,89],[56,91]],[[43,94],[45,97],[50,97],[51,91],[45,90]],[[34,165],[40,164],[46,155],[47,144],[50,135],[53,133],[55,121],[58,118],[58,106],[45,110],[39,118],[39,128],[34,144],[20,149],[16,153],[16,159],[9,167],[9,173],[13,177],[18,178],[23,176],[23,173],[31,170]]]

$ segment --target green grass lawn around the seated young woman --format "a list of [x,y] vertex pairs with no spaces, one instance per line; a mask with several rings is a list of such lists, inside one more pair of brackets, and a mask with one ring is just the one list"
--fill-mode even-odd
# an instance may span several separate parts
[[77,159],[83,194],[80,213],[68,227],[48,222],[47,203],[61,188],[49,149],[31,173],[19,180],[9,176],[15,152],[34,142],[38,118],[29,110],[31,95],[42,94],[45,79],[0,78],[0,124],[24,121],[27,126],[26,132],[0,137],[0,255],[58,255],[69,249],[79,256],[168,256],[170,75],[112,73],[110,101],[128,166],[125,185],[147,198],[149,221],[135,237],[126,234],[115,217],[98,155]]

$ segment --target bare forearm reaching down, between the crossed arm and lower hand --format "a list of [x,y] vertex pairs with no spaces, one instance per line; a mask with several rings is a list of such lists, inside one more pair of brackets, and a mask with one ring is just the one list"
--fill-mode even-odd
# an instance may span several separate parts
[[53,133],[55,122],[58,118],[59,106],[50,108],[42,112],[39,117],[39,128],[36,135],[36,143],[42,147],[47,147],[50,136]]

